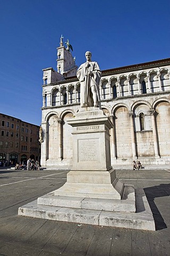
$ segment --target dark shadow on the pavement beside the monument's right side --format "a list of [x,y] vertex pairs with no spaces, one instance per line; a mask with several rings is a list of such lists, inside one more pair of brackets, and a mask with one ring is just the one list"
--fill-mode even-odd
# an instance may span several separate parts
[[160,214],[158,207],[155,203],[155,198],[169,196],[170,184],[160,184],[158,186],[144,188],[144,191],[147,196],[148,203],[155,220],[156,230],[167,228],[166,223],[164,222],[164,219]]

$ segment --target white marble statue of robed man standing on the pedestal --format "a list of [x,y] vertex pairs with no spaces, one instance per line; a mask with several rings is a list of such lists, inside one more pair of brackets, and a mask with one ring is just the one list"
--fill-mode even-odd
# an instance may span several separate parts
[[96,61],[91,61],[91,52],[86,52],[87,62],[83,63],[78,71],[77,77],[80,85],[80,106],[100,107],[99,83],[101,71]]

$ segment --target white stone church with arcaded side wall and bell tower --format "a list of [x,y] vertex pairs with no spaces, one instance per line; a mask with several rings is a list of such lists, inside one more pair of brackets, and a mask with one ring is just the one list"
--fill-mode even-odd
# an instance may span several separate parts
[[[43,69],[41,165],[72,166],[72,127],[80,82],[70,47],[57,48],[57,71]],[[101,71],[101,108],[111,118],[112,166],[170,163],[170,59]]]

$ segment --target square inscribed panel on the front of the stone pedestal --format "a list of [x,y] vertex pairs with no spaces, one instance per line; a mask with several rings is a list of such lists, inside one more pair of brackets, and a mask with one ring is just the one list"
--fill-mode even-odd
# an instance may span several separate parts
[[99,161],[99,139],[78,141],[79,162]]

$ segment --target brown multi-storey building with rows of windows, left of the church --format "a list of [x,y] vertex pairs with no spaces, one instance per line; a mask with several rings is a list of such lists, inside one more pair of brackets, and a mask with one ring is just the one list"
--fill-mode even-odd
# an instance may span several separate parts
[[21,119],[0,114],[0,163],[40,161],[39,127]]

